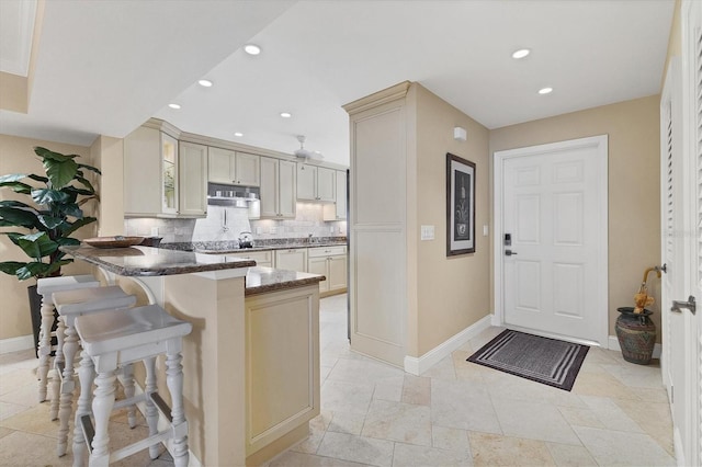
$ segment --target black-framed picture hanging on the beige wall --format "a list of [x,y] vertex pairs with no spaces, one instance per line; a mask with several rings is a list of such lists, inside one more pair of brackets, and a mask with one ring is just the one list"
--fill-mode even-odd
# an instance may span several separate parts
[[475,253],[475,163],[446,152],[446,257]]

